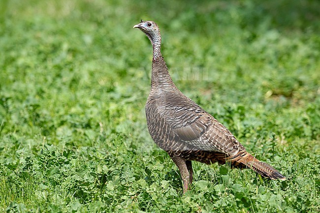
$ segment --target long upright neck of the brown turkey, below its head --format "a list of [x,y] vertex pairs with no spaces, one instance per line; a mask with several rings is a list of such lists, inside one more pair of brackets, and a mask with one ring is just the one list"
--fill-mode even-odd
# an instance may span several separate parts
[[166,92],[176,88],[161,55],[161,37],[150,39],[153,47],[151,92]]

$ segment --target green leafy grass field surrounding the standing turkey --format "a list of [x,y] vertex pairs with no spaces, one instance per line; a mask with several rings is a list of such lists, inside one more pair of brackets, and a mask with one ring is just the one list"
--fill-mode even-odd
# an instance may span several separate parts
[[[0,212],[319,213],[320,1],[1,0]],[[154,20],[178,88],[287,177],[152,141]]]

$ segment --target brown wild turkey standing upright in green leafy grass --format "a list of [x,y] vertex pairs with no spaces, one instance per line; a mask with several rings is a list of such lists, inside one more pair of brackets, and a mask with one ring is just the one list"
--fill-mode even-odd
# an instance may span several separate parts
[[148,129],[155,143],[178,166],[184,193],[192,183],[192,160],[206,164],[227,161],[233,167],[252,168],[266,178],[286,180],[246,152],[223,124],[174,85],[160,52],[161,35],[155,22],[141,20],[133,28],[143,31],[153,47],[151,91],[146,103]]

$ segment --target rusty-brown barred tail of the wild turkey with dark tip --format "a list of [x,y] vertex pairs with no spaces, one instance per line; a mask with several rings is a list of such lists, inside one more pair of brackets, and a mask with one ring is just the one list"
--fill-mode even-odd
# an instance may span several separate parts
[[254,156],[252,156],[250,153],[246,151],[238,152],[236,155],[232,156],[229,160],[234,165],[243,164],[246,165],[249,168],[252,168],[254,171],[256,171],[258,174],[265,178],[270,178],[272,180],[280,179],[285,181],[286,177],[283,176],[280,172],[278,172],[276,169],[274,169],[272,166],[270,166],[267,163],[261,162],[258,159],[256,159]]

